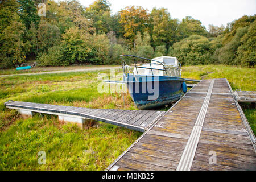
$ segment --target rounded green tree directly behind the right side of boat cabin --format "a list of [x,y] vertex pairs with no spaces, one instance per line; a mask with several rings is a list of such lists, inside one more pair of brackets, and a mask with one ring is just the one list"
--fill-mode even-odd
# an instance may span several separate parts
[[209,39],[200,35],[191,35],[174,43],[168,55],[177,57],[180,63],[185,65],[207,64],[210,60],[209,49]]

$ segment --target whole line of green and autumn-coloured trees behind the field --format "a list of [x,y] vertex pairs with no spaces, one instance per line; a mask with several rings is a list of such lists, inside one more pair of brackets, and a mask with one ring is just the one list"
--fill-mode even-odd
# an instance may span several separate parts
[[207,31],[200,20],[175,19],[164,8],[130,6],[112,14],[107,0],[89,7],[76,0],[43,5],[0,0],[0,68],[34,60],[42,66],[119,64],[122,54],[176,56],[183,65],[255,65],[256,15]]

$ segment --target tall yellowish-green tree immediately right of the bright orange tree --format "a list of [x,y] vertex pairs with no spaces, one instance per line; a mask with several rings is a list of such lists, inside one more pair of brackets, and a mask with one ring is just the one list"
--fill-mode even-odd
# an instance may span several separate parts
[[177,19],[172,19],[167,9],[152,9],[150,27],[153,46],[166,45],[170,47],[177,40]]

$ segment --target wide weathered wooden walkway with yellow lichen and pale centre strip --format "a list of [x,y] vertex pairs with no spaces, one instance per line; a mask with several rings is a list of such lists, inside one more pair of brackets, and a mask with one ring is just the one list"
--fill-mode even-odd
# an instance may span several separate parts
[[107,170],[256,170],[255,136],[228,81],[203,80]]

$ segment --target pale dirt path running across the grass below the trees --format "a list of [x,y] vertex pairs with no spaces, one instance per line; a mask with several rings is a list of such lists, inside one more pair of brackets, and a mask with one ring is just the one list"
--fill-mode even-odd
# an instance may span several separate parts
[[86,72],[86,71],[96,71],[96,70],[105,70],[105,69],[115,69],[115,68],[122,68],[121,66],[116,67],[94,67],[94,68],[83,68],[83,69],[67,69],[67,70],[61,70],[61,71],[51,71],[51,72],[36,72],[36,73],[19,73],[19,74],[10,74],[10,75],[0,75],[0,77],[5,76],[19,76],[19,75],[43,75],[43,74],[52,74],[52,73],[67,73],[67,72]]

